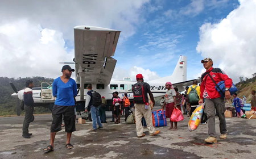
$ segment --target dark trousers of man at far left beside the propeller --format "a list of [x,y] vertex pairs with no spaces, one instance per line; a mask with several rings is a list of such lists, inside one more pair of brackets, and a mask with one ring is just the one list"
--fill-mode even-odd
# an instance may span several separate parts
[[34,107],[24,105],[24,111],[25,111],[25,118],[24,118],[23,127],[22,127],[22,135],[27,136],[28,127],[30,126],[30,123],[34,121],[34,115],[33,115]]

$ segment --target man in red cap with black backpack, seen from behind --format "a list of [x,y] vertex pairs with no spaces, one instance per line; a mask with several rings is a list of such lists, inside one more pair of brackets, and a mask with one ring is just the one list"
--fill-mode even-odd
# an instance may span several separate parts
[[160,133],[160,131],[156,131],[155,127],[152,123],[152,112],[151,108],[148,103],[147,94],[150,95],[150,99],[155,105],[155,100],[153,94],[150,91],[150,85],[144,82],[142,74],[137,74],[136,76],[137,83],[133,85],[133,97],[135,103],[135,119],[136,119],[136,130],[137,130],[137,137],[143,137],[146,134],[143,133],[143,126],[141,123],[142,117],[145,118],[147,123],[147,128],[150,133],[150,136],[155,136]]

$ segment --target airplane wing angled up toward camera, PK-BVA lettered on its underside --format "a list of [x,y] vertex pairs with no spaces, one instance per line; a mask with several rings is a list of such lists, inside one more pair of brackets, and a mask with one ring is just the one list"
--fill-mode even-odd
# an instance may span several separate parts
[[112,56],[120,31],[76,26],[74,34],[76,82],[108,85],[117,62]]

